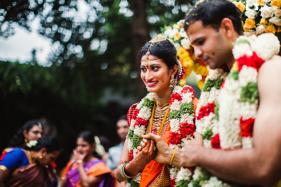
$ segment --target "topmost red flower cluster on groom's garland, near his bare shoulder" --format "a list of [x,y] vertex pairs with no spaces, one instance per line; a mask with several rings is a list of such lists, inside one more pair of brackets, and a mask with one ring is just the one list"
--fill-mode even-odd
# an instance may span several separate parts
[[247,57],[246,55],[240,57],[237,59],[238,62],[238,70],[241,71],[242,67],[244,65],[253,67],[257,71],[261,67],[261,65],[264,63],[263,59],[259,58],[256,54],[256,52],[253,52],[253,55],[250,57]]

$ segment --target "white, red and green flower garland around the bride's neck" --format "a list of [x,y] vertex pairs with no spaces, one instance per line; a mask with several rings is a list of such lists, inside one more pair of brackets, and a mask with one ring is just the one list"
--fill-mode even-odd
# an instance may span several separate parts
[[[191,86],[175,86],[173,94],[170,99],[170,138],[169,147],[175,150],[180,150],[184,146],[184,142],[189,140],[195,130],[193,124],[194,105],[192,99],[194,97],[194,90]],[[129,160],[133,160],[136,156],[135,151],[140,146],[140,141],[143,139],[142,135],[148,127],[148,122],[151,118],[154,106],[154,94],[148,93],[136,105],[128,132],[128,150]],[[137,187],[140,183],[142,170],[136,174],[132,179],[128,179],[127,187]],[[170,169],[171,186],[175,184],[175,178],[179,168],[172,166]]]

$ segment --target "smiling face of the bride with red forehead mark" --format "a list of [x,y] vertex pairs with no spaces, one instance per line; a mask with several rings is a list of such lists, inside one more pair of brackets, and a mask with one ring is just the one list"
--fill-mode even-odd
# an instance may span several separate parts
[[168,66],[162,60],[152,55],[148,56],[149,62],[146,63],[146,55],[141,58],[140,76],[149,92],[155,93],[155,98],[162,98],[171,92],[170,78],[173,70],[169,70]]

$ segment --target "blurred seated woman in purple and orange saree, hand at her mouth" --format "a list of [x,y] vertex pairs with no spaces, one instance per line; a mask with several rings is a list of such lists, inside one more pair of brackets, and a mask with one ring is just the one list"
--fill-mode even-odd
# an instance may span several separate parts
[[76,149],[66,169],[61,173],[61,187],[113,187],[115,179],[105,163],[94,156],[95,140],[90,131],[77,138]]

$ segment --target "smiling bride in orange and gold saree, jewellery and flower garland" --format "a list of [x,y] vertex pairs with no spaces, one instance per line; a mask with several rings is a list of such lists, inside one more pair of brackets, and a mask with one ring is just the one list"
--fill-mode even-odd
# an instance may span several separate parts
[[[165,37],[156,37],[140,50],[140,77],[150,92],[128,111],[130,129],[126,137],[117,181],[126,186],[173,186],[179,170],[173,163],[184,141],[194,132],[194,111],[198,99],[191,86],[177,84],[184,75],[175,46]],[[155,142],[148,140],[141,150],[142,135],[158,134],[174,150],[167,163],[153,161]],[[141,150],[141,151],[138,151]],[[177,152],[177,153],[176,153]]]

